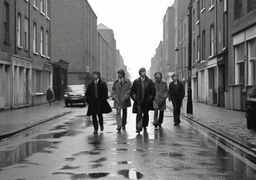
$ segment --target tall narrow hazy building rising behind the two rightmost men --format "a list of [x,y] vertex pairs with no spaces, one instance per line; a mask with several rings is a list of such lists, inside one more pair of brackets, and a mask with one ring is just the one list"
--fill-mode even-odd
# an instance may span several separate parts
[[164,75],[169,84],[172,81],[171,75],[175,72],[174,5],[167,8],[165,17],[163,19],[163,30],[164,64],[166,67]]

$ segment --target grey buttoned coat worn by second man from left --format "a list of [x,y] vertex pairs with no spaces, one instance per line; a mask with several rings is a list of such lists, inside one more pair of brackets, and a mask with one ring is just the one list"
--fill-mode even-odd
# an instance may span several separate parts
[[128,78],[122,80],[122,85],[119,79],[114,81],[112,87],[112,100],[114,100],[115,109],[124,109],[131,107],[131,87],[132,83]]

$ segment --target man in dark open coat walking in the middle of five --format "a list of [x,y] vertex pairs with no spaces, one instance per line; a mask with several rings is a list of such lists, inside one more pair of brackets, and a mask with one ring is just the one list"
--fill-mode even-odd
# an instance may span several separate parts
[[148,126],[149,110],[154,110],[153,100],[155,99],[155,86],[151,79],[146,76],[146,69],[140,68],[140,77],[133,81],[131,98],[134,100],[132,112],[136,116],[136,132],[140,134],[142,127],[146,131]]

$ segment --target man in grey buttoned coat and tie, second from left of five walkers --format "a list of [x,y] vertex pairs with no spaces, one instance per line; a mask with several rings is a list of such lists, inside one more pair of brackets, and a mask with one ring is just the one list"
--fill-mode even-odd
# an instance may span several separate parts
[[[127,122],[127,108],[131,107],[131,81],[125,77],[123,69],[119,69],[118,79],[114,81],[112,87],[112,100],[114,100],[114,108],[117,109],[117,130],[120,132],[121,128],[126,129]],[[121,110],[123,116],[121,116]]]

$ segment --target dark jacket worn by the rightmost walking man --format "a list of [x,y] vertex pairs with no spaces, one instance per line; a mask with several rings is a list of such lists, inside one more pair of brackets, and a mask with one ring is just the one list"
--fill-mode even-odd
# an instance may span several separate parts
[[181,100],[185,96],[184,85],[181,81],[177,80],[177,85],[174,81],[170,82],[169,85],[169,100]]

